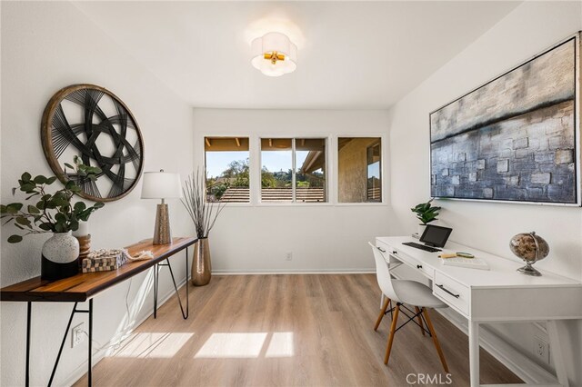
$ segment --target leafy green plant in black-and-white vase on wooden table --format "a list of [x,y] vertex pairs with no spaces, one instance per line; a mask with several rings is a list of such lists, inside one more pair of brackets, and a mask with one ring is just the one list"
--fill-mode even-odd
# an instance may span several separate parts
[[[66,168],[73,169],[77,176],[95,181],[101,169],[98,167],[80,164],[75,156],[75,167],[65,164]],[[19,189],[27,194],[25,201],[35,200],[25,206],[24,203],[0,204],[0,218],[7,218],[5,224],[14,223],[15,227],[24,234],[13,234],[8,237],[9,243],[19,243],[23,236],[30,233],[53,233],[42,249],[41,278],[55,281],[70,277],[79,272],[79,243],[72,232],[79,227],[79,221],[86,221],[95,210],[104,206],[104,203],[95,203],[88,206],[83,202],[71,203],[73,196],[81,192],[74,180],[65,183],[65,187],[55,193],[46,193],[46,187],[55,183],[56,177],[46,177],[41,174],[32,177],[25,172],[18,180]],[[13,188],[15,194],[17,188]]]

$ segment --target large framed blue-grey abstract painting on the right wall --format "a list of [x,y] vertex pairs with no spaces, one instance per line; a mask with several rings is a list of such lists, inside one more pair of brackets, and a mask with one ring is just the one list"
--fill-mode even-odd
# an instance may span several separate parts
[[431,194],[579,203],[579,34],[430,114]]

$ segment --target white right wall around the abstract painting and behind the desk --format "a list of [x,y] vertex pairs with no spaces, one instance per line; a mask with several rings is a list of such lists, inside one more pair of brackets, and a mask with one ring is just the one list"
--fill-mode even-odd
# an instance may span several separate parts
[[[409,208],[430,194],[429,112],[580,29],[582,3],[526,2],[390,109],[390,187],[395,234],[415,230],[415,218]],[[438,201],[438,205],[444,208],[441,223],[454,228],[452,240],[513,259],[508,249],[511,236],[536,231],[551,248],[550,256],[537,263],[537,267],[582,279],[581,208],[444,200]],[[526,353],[532,351],[533,334],[542,337],[546,334],[533,324],[497,325],[493,329]],[[580,386],[582,323],[563,324],[562,330],[567,338],[568,375],[574,385]]]

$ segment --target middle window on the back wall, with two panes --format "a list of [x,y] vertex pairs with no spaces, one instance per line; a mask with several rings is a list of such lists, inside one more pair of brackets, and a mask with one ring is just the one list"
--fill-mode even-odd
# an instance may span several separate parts
[[261,201],[326,202],[326,139],[261,139]]

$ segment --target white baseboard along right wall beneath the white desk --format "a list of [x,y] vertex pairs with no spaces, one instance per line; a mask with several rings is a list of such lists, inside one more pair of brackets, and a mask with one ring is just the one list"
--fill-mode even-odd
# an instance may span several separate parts
[[[467,319],[450,308],[436,309],[449,322],[457,326],[459,330],[468,335]],[[523,353],[517,351],[512,345],[500,338],[496,333],[487,328],[487,325],[479,326],[479,344],[481,347],[504,364],[509,371],[514,372],[521,380],[532,384],[553,384],[557,378],[550,372],[532,362]]]

